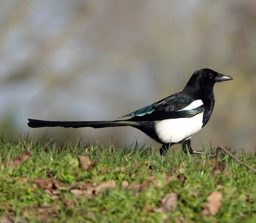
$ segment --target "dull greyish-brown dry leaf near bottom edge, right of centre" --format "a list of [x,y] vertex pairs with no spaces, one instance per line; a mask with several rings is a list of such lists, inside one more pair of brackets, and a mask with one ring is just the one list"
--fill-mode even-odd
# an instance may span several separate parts
[[159,208],[155,209],[155,212],[168,211],[171,212],[173,208],[176,208],[178,203],[178,195],[174,192],[167,194],[163,199],[159,201]]

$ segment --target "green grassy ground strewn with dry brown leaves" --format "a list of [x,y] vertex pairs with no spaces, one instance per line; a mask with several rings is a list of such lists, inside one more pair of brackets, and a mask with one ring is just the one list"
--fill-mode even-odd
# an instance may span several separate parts
[[[142,148],[143,150],[143,148]],[[27,152],[25,152],[27,151]],[[236,157],[256,168],[256,156]],[[226,155],[0,144],[0,222],[254,222],[256,175]],[[4,159],[5,158],[5,159]]]

